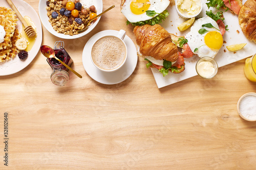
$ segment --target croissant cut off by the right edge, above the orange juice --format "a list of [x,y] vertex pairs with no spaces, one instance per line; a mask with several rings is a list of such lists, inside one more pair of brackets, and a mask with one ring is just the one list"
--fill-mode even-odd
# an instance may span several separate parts
[[256,0],[247,0],[244,3],[238,20],[244,35],[256,43]]

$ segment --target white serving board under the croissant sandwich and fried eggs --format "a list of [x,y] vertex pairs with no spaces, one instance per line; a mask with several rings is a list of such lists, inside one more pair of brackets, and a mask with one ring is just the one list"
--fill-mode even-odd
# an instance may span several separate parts
[[[218,12],[218,10],[215,8],[210,8],[208,9],[207,5],[205,4],[206,0],[202,0],[203,4],[203,9],[202,12],[199,14],[198,17],[203,17],[206,16],[205,11],[210,11],[212,10],[215,14]],[[167,8],[169,12],[169,16],[161,23],[161,26],[167,30],[169,33],[176,34],[178,36],[180,35],[185,35],[190,31],[190,29],[180,32],[177,27],[184,22],[186,19],[181,18],[174,6],[169,6]],[[243,34],[240,25],[238,23],[238,16],[233,15],[229,11],[224,11],[223,10],[223,15],[224,15],[224,24],[228,25],[226,33],[224,34],[224,43],[219,51],[219,53],[216,55],[215,60],[218,63],[219,67],[225,66],[227,64],[242,60],[244,58],[247,58],[249,56],[252,56],[253,54],[256,53],[256,44],[252,41],[249,41]],[[237,30],[240,32],[238,33]],[[236,43],[247,43],[245,47],[237,51],[237,53],[229,52],[226,48],[227,45],[232,45]],[[224,52],[224,50],[226,52]],[[165,77],[158,71],[156,68],[152,68],[153,76],[155,78],[155,81],[157,83],[157,87],[161,88],[170,84],[174,84],[176,82],[194,77],[197,75],[196,71],[196,63],[199,60],[199,57],[191,57],[189,59],[185,58],[185,70],[181,72],[180,74],[173,74],[172,72],[169,72],[169,74]],[[243,69],[241,69],[243,71]],[[218,73],[217,73],[218,75]]]

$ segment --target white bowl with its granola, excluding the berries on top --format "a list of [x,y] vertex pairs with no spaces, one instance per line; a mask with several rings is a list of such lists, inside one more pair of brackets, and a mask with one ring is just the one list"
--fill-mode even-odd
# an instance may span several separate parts
[[[48,1],[51,2],[51,5],[50,5],[51,9],[49,7],[49,3],[47,5]],[[95,21],[93,21],[92,25],[86,31],[82,31],[82,32],[78,33],[76,31],[77,29],[75,29],[75,28],[78,28],[81,25],[79,25],[77,22],[74,21],[75,17],[73,17],[72,15],[71,15],[71,17],[67,17],[67,16],[61,15],[59,13],[60,8],[66,8],[65,6],[62,5],[62,3],[64,1],[62,1],[62,0],[55,0],[55,1],[48,0],[48,1],[46,1],[46,0],[40,0],[39,1],[39,6],[38,6],[39,17],[41,19],[42,25],[44,25],[44,27],[51,34],[55,35],[56,37],[63,38],[63,39],[80,38],[80,37],[88,34],[89,32],[91,32],[96,27],[97,23],[100,20],[100,17],[97,18]],[[72,2],[80,1],[82,6],[83,6],[82,8],[89,8],[89,6],[93,5],[96,8],[97,12],[95,12],[95,13],[97,13],[97,14],[100,14],[102,12],[102,9],[103,9],[102,0],[96,0],[96,1],[92,1],[92,0],[66,0],[66,3],[70,2],[70,1],[72,1]],[[84,6],[86,3],[89,3],[88,6]],[[58,13],[58,16],[55,19],[52,18],[51,16],[49,16],[49,14],[51,14],[53,11]],[[79,12],[79,14],[80,14],[80,12]],[[69,22],[68,21],[69,18],[73,19],[73,21]],[[80,16],[80,18],[83,19],[83,17],[81,17],[81,16]],[[88,17],[88,18],[84,17],[84,19],[89,20],[90,17]],[[56,23],[58,23],[58,24],[56,24]]]

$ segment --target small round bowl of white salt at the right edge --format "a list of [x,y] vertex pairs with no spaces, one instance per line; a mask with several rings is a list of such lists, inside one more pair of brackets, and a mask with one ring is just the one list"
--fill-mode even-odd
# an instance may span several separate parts
[[250,122],[256,121],[256,93],[242,95],[238,100],[237,109],[243,119]]

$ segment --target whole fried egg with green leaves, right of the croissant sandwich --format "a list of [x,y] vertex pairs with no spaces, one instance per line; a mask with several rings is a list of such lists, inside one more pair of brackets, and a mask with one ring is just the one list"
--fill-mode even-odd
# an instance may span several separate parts
[[[202,27],[206,23],[211,23],[213,27]],[[205,29],[207,32],[200,34],[198,32],[200,29]],[[217,22],[208,16],[197,19],[185,38],[191,51],[198,57],[214,58],[223,44],[223,37]]]

